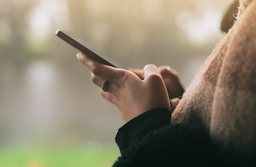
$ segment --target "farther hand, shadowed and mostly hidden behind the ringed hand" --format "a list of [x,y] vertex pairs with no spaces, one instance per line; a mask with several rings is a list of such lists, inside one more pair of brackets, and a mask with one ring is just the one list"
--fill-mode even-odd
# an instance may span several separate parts
[[[140,79],[144,79],[142,76],[143,71],[141,69],[130,69],[130,71],[137,74]],[[158,71],[163,77],[170,100],[175,97],[181,97],[184,93],[184,89],[179,80],[179,74],[169,66],[160,66],[158,67]]]

